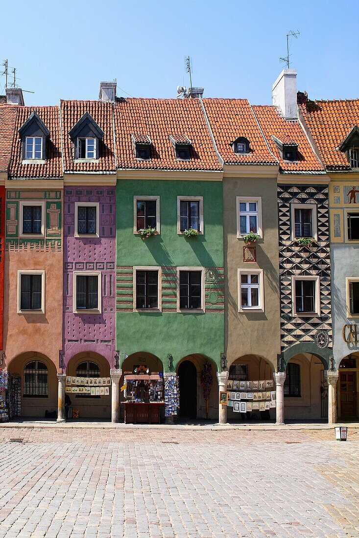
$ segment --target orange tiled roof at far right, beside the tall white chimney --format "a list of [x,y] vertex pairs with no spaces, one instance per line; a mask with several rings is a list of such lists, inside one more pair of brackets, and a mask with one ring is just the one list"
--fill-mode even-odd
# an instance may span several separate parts
[[309,101],[302,98],[300,103],[300,111],[326,168],[350,170],[347,156],[339,146],[353,127],[359,126],[359,99]]

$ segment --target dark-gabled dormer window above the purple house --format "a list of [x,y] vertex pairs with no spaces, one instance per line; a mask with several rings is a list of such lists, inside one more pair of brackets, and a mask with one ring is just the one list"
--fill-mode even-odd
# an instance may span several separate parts
[[88,112],[85,112],[68,134],[74,144],[75,159],[93,160],[100,157],[100,140],[105,133]]

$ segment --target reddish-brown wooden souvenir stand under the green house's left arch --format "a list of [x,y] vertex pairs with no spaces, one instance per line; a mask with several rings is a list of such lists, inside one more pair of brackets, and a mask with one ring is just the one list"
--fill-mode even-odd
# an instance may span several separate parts
[[125,374],[125,424],[159,424],[163,400],[162,374]]

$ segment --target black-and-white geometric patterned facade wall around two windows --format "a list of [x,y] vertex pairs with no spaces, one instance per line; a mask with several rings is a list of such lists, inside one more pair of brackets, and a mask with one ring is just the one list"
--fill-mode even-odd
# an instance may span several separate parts
[[[291,204],[317,205],[317,241],[303,247],[291,239]],[[330,298],[330,247],[327,185],[278,185],[279,276],[281,304],[281,351],[314,341],[317,330],[327,331],[332,347]],[[293,316],[292,276],[319,276],[321,317]]]

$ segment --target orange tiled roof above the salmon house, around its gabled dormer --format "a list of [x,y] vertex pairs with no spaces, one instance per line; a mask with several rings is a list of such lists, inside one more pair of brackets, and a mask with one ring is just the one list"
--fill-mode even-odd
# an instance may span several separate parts
[[[61,139],[59,107],[16,107],[18,114],[15,125],[15,136],[12,144],[9,179],[11,178],[60,178],[63,175],[61,166]],[[18,133],[27,118],[36,111],[47,129],[50,131],[50,144],[46,148],[45,164],[22,164],[22,143]]]

